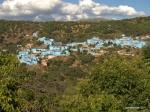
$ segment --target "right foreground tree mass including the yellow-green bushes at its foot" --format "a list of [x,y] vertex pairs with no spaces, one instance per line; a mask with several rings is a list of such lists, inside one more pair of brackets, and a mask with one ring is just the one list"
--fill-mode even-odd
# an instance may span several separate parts
[[59,98],[60,110],[124,112],[126,107],[149,109],[148,70],[141,59],[134,58],[111,55],[102,59],[93,67],[89,78],[79,84],[77,94]]

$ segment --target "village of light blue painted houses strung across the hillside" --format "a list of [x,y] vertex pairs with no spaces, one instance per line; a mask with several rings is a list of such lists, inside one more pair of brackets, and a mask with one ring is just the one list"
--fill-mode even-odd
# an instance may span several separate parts
[[51,59],[57,56],[69,56],[71,52],[87,52],[91,55],[99,55],[101,48],[108,46],[130,46],[134,48],[142,48],[145,45],[144,41],[134,40],[131,37],[122,37],[120,39],[102,40],[97,37],[87,39],[85,42],[73,42],[62,44],[54,39],[42,37],[39,42],[47,46],[47,48],[30,48],[18,52],[18,59],[21,63],[28,65],[38,64],[42,59]]

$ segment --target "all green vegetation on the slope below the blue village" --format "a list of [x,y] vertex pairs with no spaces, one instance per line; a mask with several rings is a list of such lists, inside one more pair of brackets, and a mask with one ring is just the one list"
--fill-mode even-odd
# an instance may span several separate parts
[[[143,52],[145,52],[143,50]],[[146,112],[149,65],[142,56],[71,55],[28,68],[1,55],[0,110],[4,112]],[[5,57],[5,58],[4,58]],[[11,58],[11,60],[10,60]],[[7,64],[9,62],[10,64]],[[8,70],[11,70],[11,72]],[[8,70],[8,72],[7,72]],[[135,109],[127,109],[135,107]],[[136,109],[138,108],[138,109]]]

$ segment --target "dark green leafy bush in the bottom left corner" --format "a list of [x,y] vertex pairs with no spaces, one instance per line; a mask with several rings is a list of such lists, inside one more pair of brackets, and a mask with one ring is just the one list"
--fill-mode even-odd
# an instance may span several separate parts
[[21,112],[22,100],[18,97],[19,83],[12,78],[0,82],[0,110],[2,112]]

